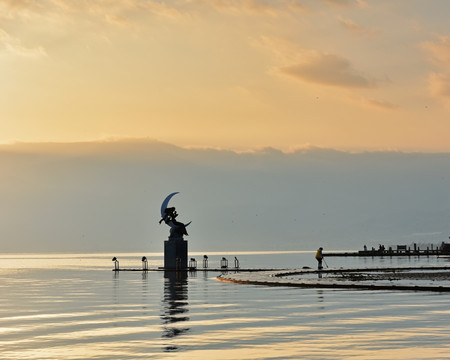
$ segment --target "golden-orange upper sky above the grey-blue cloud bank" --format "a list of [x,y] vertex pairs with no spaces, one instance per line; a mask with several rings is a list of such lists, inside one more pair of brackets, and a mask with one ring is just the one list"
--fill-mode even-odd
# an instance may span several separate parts
[[447,0],[0,0],[0,142],[448,152]]

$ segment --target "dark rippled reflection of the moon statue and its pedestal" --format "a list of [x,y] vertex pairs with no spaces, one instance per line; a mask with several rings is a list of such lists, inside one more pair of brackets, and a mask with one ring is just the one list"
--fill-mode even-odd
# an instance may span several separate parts
[[[188,321],[186,316],[188,309],[188,275],[186,272],[164,272],[164,299],[161,320],[163,324],[163,339],[174,339],[189,331],[189,327],[183,327],[183,322]],[[165,344],[165,352],[177,351],[178,346],[172,341]]]

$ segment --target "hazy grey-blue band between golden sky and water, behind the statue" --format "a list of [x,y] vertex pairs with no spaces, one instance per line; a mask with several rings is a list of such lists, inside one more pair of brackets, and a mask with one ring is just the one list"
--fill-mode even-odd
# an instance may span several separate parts
[[191,251],[439,244],[450,230],[448,153],[123,139],[1,145],[0,157],[2,252],[161,252],[174,191]]

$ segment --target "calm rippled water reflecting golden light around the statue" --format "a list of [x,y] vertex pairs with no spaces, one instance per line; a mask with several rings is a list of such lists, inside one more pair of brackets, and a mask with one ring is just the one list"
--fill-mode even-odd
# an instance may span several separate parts
[[[0,256],[0,359],[450,359],[450,294],[238,285],[213,272],[115,273],[113,255],[121,267],[140,267],[143,254]],[[313,253],[225,254],[234,255],[242,267],[315,266]],[[210,254],[210,266],[221,256]],[[150,267],[162,264],[147,257]]]

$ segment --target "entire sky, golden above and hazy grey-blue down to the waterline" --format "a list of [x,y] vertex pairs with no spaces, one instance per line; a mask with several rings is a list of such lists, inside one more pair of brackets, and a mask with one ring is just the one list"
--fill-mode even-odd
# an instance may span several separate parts
[[450,233],[447,0],[0,0],[0,251]]

